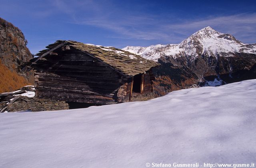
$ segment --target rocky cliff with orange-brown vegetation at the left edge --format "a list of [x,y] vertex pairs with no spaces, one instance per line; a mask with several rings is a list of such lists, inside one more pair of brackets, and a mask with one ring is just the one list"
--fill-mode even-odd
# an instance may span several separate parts
[[18,65],[32,59],[23,33],[0,18],[0,93],[34,83],[33,72],[21,72]]

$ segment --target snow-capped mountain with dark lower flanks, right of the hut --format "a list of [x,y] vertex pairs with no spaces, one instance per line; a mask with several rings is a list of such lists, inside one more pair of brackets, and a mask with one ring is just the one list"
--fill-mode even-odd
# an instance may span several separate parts
[[234,36],[219,33],[211,27],[197,31],[180,44],[128,46],[123,50],[183,68],[195,74],[198,79],[194,82],[203,86],[256,78],[256,44],[244,44]]

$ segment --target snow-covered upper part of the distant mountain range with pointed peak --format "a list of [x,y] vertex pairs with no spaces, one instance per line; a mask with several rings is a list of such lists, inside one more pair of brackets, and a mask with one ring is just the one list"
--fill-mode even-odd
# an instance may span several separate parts
[[196,57],[208,54],[217,57],[223,53],[224,57],[232,57],[235,53],[256,53],[256,45],[243,44],[230,34],[219,33],[211,27],[205,27],[180,44],[152,45],[149,47],[127,46],[123,48],[134,54],[150,60],[157,61],[161,56],[177,57]]

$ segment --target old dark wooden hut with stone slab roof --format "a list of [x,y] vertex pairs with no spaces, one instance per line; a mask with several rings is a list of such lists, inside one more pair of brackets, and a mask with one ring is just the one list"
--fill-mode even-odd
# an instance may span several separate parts
[[[154,61],[122,51],[76,41],[56,41],[26,63],[34,69],[39,99],[116,104],[146,97],[154,90]],[[24,67],[24,65],[23,65]]]

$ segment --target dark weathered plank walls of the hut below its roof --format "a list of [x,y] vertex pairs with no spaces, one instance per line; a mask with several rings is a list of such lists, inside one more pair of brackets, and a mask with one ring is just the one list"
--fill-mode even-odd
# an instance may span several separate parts
[[[54,51],[33,65],[36,96],[40,99],[94,104],[128,102],[132,77],[125,77],[86,53]],[[152,71],[144,74],[143,92],[153,91]]]

